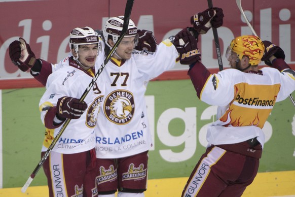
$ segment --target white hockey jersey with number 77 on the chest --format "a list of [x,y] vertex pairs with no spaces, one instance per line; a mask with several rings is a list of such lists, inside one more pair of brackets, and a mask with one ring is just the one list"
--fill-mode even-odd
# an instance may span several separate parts
[[144,93],[149,80],[175,65],[178,56],[167,39],[157,51],[134,51],[123,64],[112,59],[102,72],[104,98],[97,120],[96,156],[120,158],[149,150],[151,133]]

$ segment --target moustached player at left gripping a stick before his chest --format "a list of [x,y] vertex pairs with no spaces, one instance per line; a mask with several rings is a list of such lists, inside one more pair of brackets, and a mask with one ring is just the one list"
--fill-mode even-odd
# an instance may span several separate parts
[[79,101],[99,68],[95,64],[98,42],[97,33],[90,27],[71,31],[72,56],[67,58],[67,65],[48,77],[40,101],[41,119],[46,127],[42,156],[65,119],[72,119],[43,165],[52,197],[98,195],[94,147],[95,125],[103,97],[99,80],[85,100]]

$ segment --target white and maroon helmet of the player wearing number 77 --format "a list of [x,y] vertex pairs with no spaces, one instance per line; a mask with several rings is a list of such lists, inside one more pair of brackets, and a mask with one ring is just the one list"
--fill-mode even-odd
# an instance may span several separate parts
[[[112,17],[109,18],[104,25],[103,28],[103,37],[105,44],[112,48],[107,41],[111,39],[116,43],[118,41],[118,38],[121,35],[121,31],[123,29],[123,23],[124,23],[124,16],[118,16],[118,17]],[[125,34],[125,37],[132,37],[137,35],[137,27],[135,26],[134,22],[129,19],[129,25],[128,30]]]

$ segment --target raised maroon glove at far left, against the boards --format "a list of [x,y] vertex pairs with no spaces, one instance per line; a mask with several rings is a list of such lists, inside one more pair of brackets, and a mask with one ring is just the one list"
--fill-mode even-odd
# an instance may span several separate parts
[[9,56],[11,61],[23,72],[32,68],[36,62],[35,54],[23,38],[19,38],[19,41],[13,41],[9,45]]

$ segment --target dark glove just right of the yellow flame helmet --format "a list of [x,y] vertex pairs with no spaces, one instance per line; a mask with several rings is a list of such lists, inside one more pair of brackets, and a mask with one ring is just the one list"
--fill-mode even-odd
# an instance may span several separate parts
[[265,64],[272,66],[272,62],[269,60],[271,56],[275,56],[276,58],[281,58],[285,60],[285,53],[283,49],[281,49],[279,46],[274,45],[270,41],[262,41],[264,44],[264,54],[262,57],[262,61],[265,62]]

